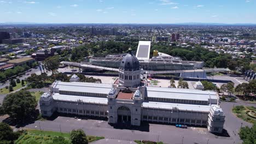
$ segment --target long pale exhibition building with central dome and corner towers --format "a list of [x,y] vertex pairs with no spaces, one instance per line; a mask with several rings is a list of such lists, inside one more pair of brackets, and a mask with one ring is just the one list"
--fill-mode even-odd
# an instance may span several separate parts
[[143,122],[205,126],[222,133],[225,116],[216,92],[148,87],[138,59],[130,51],[120,62],[119,79],[103,83],[55,81],[39,100],[42,116],[54,112],[107,118],[108,123]]

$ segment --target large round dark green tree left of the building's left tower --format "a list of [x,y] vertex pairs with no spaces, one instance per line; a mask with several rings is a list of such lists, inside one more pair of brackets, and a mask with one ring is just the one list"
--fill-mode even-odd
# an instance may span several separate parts
[[17,121],[33,118],[36,106],[36,98],[28,91],[8,94],[4,98],[2,105],[4,113]]

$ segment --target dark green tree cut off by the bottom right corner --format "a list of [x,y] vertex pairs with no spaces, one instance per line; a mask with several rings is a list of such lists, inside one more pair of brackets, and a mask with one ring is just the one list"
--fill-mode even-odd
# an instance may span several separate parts
[[251,144],[256,142],[256,123],[252,128],[248,126],[242,127],[238,133],[240,139],[243,140],[243,144]]

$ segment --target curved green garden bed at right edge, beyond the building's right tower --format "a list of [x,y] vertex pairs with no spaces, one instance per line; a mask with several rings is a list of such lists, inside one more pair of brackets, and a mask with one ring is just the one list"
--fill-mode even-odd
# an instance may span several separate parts
[[249,123],[255,123],[256,118],[248,116],[247,115],[248,111],[256,112],[256,107],[238,105],[238,106],[235,106],[232,109],[232,113],[234,113],[234,115],[236,115],[238,118],[241,118],[241,119],[243,119],[243,121],[246,121],[246,122],[249,122]]

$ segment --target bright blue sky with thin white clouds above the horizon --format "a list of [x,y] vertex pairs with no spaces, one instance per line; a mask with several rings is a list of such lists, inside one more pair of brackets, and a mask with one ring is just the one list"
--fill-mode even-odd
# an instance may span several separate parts
[[256,23],[256,0],[0,0],[0,22]]

